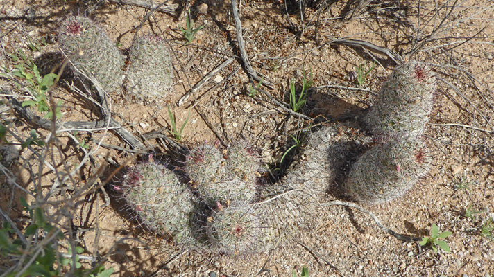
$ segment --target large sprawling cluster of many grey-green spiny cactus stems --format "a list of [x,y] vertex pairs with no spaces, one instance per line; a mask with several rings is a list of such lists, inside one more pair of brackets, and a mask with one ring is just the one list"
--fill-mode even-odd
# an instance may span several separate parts
[[[143,222],[177,244],[228,254],[269,249],[315,227],[335,181],[345,179],[343,188],[359,202],[382,203],[425,176],[429,161],[419,138],[433,89],[427,66],[399,66],[366,116],[372,137],[326,125],[309,135],[299,160],[276,184],[259,181],[262,161],[246,141],[228,148],[204,143],[185,157],[188,178],[179,180],[165,166],[142,163],[126,175],[123,195]],[[361,148],[367,150],[350,164]]]

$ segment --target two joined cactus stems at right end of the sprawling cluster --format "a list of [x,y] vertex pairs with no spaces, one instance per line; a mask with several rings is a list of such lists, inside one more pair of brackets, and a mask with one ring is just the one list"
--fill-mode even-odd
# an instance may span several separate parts
[[404,195],[428,164],[420,135],[429,121],[435,75],[421,62],[406,62],[384,82],[380,96],[365,117],[375,145],[352,165],[346,183],[359,202],[379,204]]

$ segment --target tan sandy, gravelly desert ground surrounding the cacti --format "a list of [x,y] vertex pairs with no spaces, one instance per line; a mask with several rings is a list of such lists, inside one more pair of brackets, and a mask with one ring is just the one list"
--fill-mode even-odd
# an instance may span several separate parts
[[[314,120],[289,114],[264,93],[247,95],[249,85],[257,82],[251,83],[241,66],[229,1],[179,2],[178,16],[154,11],[144,22],[149,9],[110,2],[1,0],[0,66],[13,69],[16,62],[8,53],[22,49],[42,73],[56,68],[62,62],[56,31],[68,15],[87,15],[98,21],[123,52],[130,48],[136,31],[164,37],[173,50],[173,96],[144,104],[123,90],[108,94],[115,120],[144,143],[147,155],[161,153],[163,159],[176,154],[173,145],[162,139],[163,134],[172,137],[167,131],[171,122],[166,105],[178,125],[188,111],[191,113],[182,145],[216,140],[228,144],[245,138],[259,149],[266,164],[273,165],[293,144],[289,135],[311,124],[330,124],[325,121],[346,116],[341,123],[362,132],[355,122],[372,105],[396,63],[368,48],[337,44],[336,39],[370,42],[398,53],[404,60],[430,64],[440,79],[434,115],[424,135],[433,157],[432,170],[404,197],[362,206],[398,233],[424,237],[432,224],[441,231],[451,231],[445,239],[451,252],[434,253],[416,242],[397,240],[383,233],[365,213],[342,206],[318,211],[314,229],[304,230],[300,240],[267,253],[223,256],[174,247],[153,238],[122,211],[111,184],[121,178],[117,172],[121,167],[142,157],[104,128],[78,134],[57,132],[58,141],[49,150],[36,150],[53,169],[40,167],[40,156],[33,151],[19,152],[17,145],[8,148],[8,156],[7,146],[3,146],[0,207],[19,229],[26,228],[26,213],[18,199],[29,199],[19,187],[34,191],[39,184],[48,195],[59,178],[57,172],[63,170],[74,175],[65,181],[67,190],[52,195],[50,211],[58,214],[58,200],[71,203],[67,205],[72,213],[66,217],[70,220],[58,223],[67,226],[70,222],[73,239],[85,249],[84,255],[107,258],[104,265],[114,268],[114,276],[212,276],[208,275],[212,272],[216,276],[291,276],[293,270],[300,274],[303,266],[310,276],[494,274],[494,239],[486,232],[494,225],[489,225],[494,217],[493,1],[309,1],[303,2],[303,12],[299,2],[241,1],[240,18],[250,63],[273,84],[272,88],[261,88],[279,102],[287,102],[289,81],[293,78],[300,84],[304,70],[312,71],[314,89],[302,113]],[[366,6],[364,2],[370,3]],[[203,3],[207,10],[200,6]],[[356,8],[356,3],[364,7]],[[196,26],[204,28],[194,42],[184,46],[178,25],[185,26],[185,8],[189,7]],[[30,47],[33,44],[39,47]],[[235,59],[182,105],[176,105],[194,84],[229,57]],[[375,69],[359,87],[352,75],[360,64],[368,69],[374,60]],[[54,98],[63,103],[60,122],[101,120],[99,109],[83,93],[76,93],[70,87],[72,82],[83,89],[78,78],[65,69],[53,89]],[[0,89],[4,97],[2,124],[20,136],[8,136],[9,141],[25,140],[31,129],[37,129],[42,139],[53,135],[7,105],[8,98],[25,100],[25,89],[7,78],[0,78]],[[146,139],[152,131],[162,136]],[[74,139],[86,141],[89,148],[80,148]],[[76,168],[83,160],[84,165]],[[99,172],[103,165],[104,173]],[[94,176],[99,179],[95,181]],[[89,184],[96,184],[98,189]],[[109,197],[98,184],[107,184],[104,188]],[[76,191],[85,193],[75,195]],[[482,210],[466,216],[468,211]]]

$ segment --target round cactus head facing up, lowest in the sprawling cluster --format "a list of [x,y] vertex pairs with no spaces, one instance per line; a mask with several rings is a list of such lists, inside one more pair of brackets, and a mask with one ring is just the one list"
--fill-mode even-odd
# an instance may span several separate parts
[[238,202],[223,207],[219,202],[207,218],[207,238],[212,249],[221,253],[241,254],[262,250],[262,228],[254,206]]

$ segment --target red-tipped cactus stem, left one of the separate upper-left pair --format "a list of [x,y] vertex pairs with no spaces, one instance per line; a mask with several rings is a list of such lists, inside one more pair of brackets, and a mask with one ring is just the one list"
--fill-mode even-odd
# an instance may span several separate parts
[[105,31],[91,19],[71,16],[62,21],[58,42],[71,61],[74,72],[78,69],[94,77],[107,92],[121,87],[125,57]]

